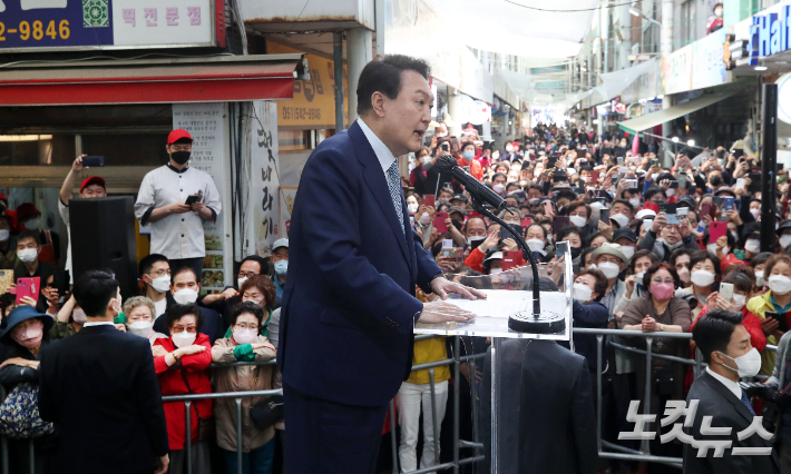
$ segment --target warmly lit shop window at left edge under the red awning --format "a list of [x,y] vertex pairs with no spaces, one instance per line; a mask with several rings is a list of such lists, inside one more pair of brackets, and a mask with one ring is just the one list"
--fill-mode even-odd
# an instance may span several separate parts
[[71,164],[75,156],[74,135],[0,135],[0,166]]

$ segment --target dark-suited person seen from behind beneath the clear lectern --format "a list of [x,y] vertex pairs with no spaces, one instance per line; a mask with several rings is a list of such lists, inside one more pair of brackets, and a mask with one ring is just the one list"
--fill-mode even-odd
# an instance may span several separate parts
[[[543,292],[557,286],[541,278]],[[593,474],[596,411],[588,363],[555,340],[509,339],[500,353],[499,474]],[[491,465],[491,350],[484,362],[480,419]]]

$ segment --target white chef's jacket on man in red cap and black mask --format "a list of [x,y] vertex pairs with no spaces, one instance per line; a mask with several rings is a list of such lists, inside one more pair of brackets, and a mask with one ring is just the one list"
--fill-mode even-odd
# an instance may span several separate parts
[[[219,192],[208,174],[187,167],[182,171],[169,165],[148,171],[137,195],[135,217],[140,225],[148,224],[154,209],[174,203],[184,203],[191,195],[203,191],[203,205],[212,209],[215,219],[222,210]],[[203,219],[197,213],[172,214],[150,223],[152,254],[169,259],[196,258],[206,255]]]

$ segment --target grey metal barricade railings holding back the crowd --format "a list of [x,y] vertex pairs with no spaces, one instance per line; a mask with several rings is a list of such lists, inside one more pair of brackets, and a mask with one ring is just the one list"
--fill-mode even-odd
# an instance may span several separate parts
[[[700,357],[700,352],[696,352],[696,357],[686,359],[683,357],[676,357],[672,355],[666,355],[666,354],[654,354],[653,353],[653,340],[655,337],[662,337],[662,338],[677,338],[677,339],[692,339],[692,334],[691,333],[642,333],[642,332],[636,332],[636,330],[621,330],[621,329],[593,329],[593,328],[580,328],[580,327],[575,327],[573,329],[574,334],[589,334],[596,336],[596,358],[597,358],[597,367],[596,367],[596,377],[597,381],[599,382],[597,384],[597,389],[596,389],[596,445],[597,445],[597,451],[598,451],[598,456],[599,458],[611,458],[611,460],[624,460],[624,461],[636,461],[636,462],[655,462],[655,463],[662,463],[666,465],[671,465],[674,467],[682,467],[682,462],[683,460],[681,457],[663,457],[663,456],[654,456],[651,454],[650,448],[648,448],[648,443],[647,441],[644,441],[643,445],[641,446],[639,451],[636,450],[629,450],[624,446],[619,446],[617,444],[608,443],[604,440],[602,440],[602,361],[604,357],[604,337],[605,336],[621,336],[621,337],[642,337],[645,338],[646,343],[646,349],[639,349],[635,347],[629,347],[623,344],[614,343],[612,340],[608,340],[608,345],[611,345],[614,349],[625,352],[625,353],[632,353],[632,354],[637,354],[637,355],[644,355],[646,357],[646,387],[645,387],[645,395],[643,399],[644,404],[644,411],[647,414],[650,406],[651,406],[651,367],[652,367],[652,359],[653,358],[660,358],[664,361],[668,361],[672,363],[676,364],[684,364],[692,366],[695,373],[695,376],[699,376],[703,368],[706,366],[705,363],[703,363],[702,358]],[[431,339],[434,337],[446,337],[446,336],[436,336],[436,335],[422,335],[422,336],[416,336],[416,342],[417,340],[426,340],[426,339]],[[437,406],[436,406],[436,381],[434,381],[434,369],[438,367],[443,367],[443,366],[453,366],[453,376],[456,381],[460,381],[461,373],[460,373],[460,366],[463,363],[469,363],[470,369],[469,373],[470,375],[470,396],[472,399],[472,406],[475,407],[475,401],[477,398],[477,393],[476,393],[476,383],[475,383],[475,374],[476,374],[476,365],[477,361],[481,359],[486,356],[486,354],[471,354],[471,355],[466,355],[461,356],[461,337],[460,336],[453,336],[453,350],[452,350],[452,357],[442,359],[442,361],[436,361],[436,362],[430,362],[430,363],[424,363],[424,364],[418,364],[412,366],[412,372],[416,371],[423,371],[428,369],[429,371],[429,385],[430,385],[430,392],[431,392],[431,423],[433,426],[433,433],[434,433],[434,463],[436,465],[431,467],[426,467],[422,470],[417,470],[417,471],[410,471],[408,474],[427,474],[427,473],[433,473],[438,472],[441,470],[447,470],[451,468],[453,470],[453,474],[459,473],[459,468],[463,465],[467,464],[472,464],[477,463],[480,461],[485,460],[485,455],[482,454],[482,450],[485,447],[484,443],[480,440],[480,431],[479,431],[479,425],[478,425],[478,411],[472,409],[471,416],[472,416],[472,441],[468,440],[461,440],[459,436],[459,416],[460,416],[460,383],[456,382],[453,384],[453,461],[440,464],[439,463],[439,455],[440,455],[440,450],[439,450],[439,425],[440,421],[437,417]],[[777,350],[777,346],[772,345],[766,345],[764,350]],[[230,364],[216,364],[213,363],[209,368],[212,369],[217,369],[217,368],[231,368],[231,367],[238,367],[238,366],[250,366],[250,365],[275,365],[276,361],[265,361],[265,362],[235,362],[235,363],[230,363]],[[243,463],[242,463],[242,437],[243,437],[243,432],[242,432],[242,399],[246,397],[261,397],[261,396],[272,396],[272,395],[282,395],[283,391],[281,388],[275,388],[275,389],[267,389],[267,391],[250,391],[250,392],[223,392],[223,393],[208,393],[208,394],[186,394],[186,395],[168,395],[168,396],[163,396],[163,403],[184,403],[184,409],[185,409],[185,416],[186,416],[186,423],[185,423],[185,434],[186,434],[186,464],[187,464],[187,473],[192,474],[193,466],[192,466],[192,418],[189,416],[191,413],[191,406],[193,402],[201,401],[201,399],[226,399],[226,398],[233,398],[234,402],[236,403],[236,441],[237,441],[237,446],[236,446],[236,456],[237,456],[237,465],[238,465],[238,473],[241,474],[243,472]],[[0,399],[6,398],[6,391],[2,386],[0,386]],[[396,407],[393,401],[390,402],[390,407],[389,407],[389,413],[390,413],[390,431],[391,431],[391,447],[392,447],[392,463],[393,463],[393,473],[400,473],[401,471],[399,470],[399,451],[398,451],[398,444],[396,441]],[[30,474],[35,474],[36,472],[36,464],[35,464],[35,440],[29,441],[29,472]],[[611,450],[616,450],[621,451],[621,453],[615,453],[611,451],[604,451],[604,448],[611,448]],[[466,458],[460,458],[460,450],[461,448],[472,448],[473,454],[470,457]],[[2,467],[2,474],[9,474],[10,472],[10,466],[9,466],[9,453],[8,453],[8,440],[4,436],[0,436],[0,454],[2,456],[2,460],[0,462],[0,465]]]

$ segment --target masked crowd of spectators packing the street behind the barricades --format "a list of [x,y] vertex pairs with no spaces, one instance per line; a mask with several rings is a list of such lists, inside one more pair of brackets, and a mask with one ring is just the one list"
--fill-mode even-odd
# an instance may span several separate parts
[[[121,300],[118,293],[108,297],[107,307],[95,307],[89,290],[71,290],[74,256],[69,248],[60,258],[59,236],[42,229],[38,209],[31,204],[10,209],[0,195],[0,270],[12,269],[14,275],[0,295],[0,384],[8,394],[0,405],[0,428],[11,438],[9,452],[17,472],[28,463],[28,438],[36,440],[37,466],[47,472],[56,460],[59,436],[79,433],[74,426],[60,426],[75,418],[53,408],[56,385],[47,385],[48,392],[41,394],[49,402],[40,415],[19,401],[35,394],[43,381],[39,368],[47,347],[99,324],[91,318],[107,314],[115,330],[148,340],[162,396],[280,387],[277,371],[263,363],[275,358],[279,345],[289,240],[275,241],[266,259],[244,258],[236,285],[202,294],[201,223],[216,219],[222,206],[211,177],[188,166],[191,144],[186,131],[175,130],[167,144],[170,162],[144,179],[135,210],[141,225],[150,224],[152,253],[139,263],[140,294]],[[638,145],[623,134],[598,137],[584,127],[556,126],[538,126],[499,150],[475,134],[450,136],[440,124],[427,146],[414,154],[402,187],[414,231],[449,277],[498,275],[504,271],[505,251],[519,247],[516,239],[501,235],[498,224],[473,210],[471,196],[436,166],[445,154],[505,199],[508,207],[499,217],[520,233],[538,261],[556,263],[557,247],[567,243],[575,271],[575,327],[652,333],[655,354],[691,358],[694,342],[662,333],[690,333],[715,310],[738,313],[751,347],[761,353],[760,373],[769,377],[768,384],[782,388],[791,377],[787,350],[791,336],[783,332],[788,328],[783,315],[791,309],[791,220],[781,220],[791,198],[787,176],[779,176],[779,199],[772,203],[779,218],[774,248],[761,251],[756,157],[723,147],[702,152],[680,149],[672,162],[665,162],[655,151],[655,144]],[[77,158],[59,194],[58,208],[67,225],[72,189],[84,169],[81,157]],[[80,199],[107,196],[99,176],[85,178],[79,189]],[[201,199],[186,204],[196,194]],[[104,275],[113,278],[111,271]],[[18,300],[16,282],[28,277],[40,278],[38,298]],[[430,298],[420,289],[418,297]],[[645,348],[639,337],[606,340]],[[488,344],[486,338],[465,337],[461,355],[482,354]],[[768,344],[779,345],[778,353],[765,350]],[[452,350],[449,338],[419,340],[413,364],[447,359]],[[643,399],[645,359],[606,344],[597,367],[596,338],[589,335],[574,336],[574,352],[585,357],[589,379],[600,386],[603,437],[637,450],[636,442],[619,441],[618,433],[631,431],[629,401]],[[234,364],[240,362],[254,364]],[[741,364],[738,367],[744,376]],[[401,472],[452,460],[455,401],[448,396],[452,385],[461,391],[460,436],[473,438],[471,412],[477,401],[470,393],[472,385],[481,383],[484,369],[462,363],[460,372],[461,378],[453,379],[447,366],[438,367],[433,386],[428,369],[414,371],[403,382],[396,398],[399,428],[391,433],[398,436]],[[654,358],[651,374],[651,413],[662,413],[666,401],[686,397],[692,384],[689,366]],[[241,446],[232,398],[194,402],[188,415],[183,403],[165,403],[169,472],[186,472],[187,416],[193,472],[237,472],[237,450],[243,452],[243,472],[275,472],[275,438],[284,448],[285,424],[282,419],[262,424],[253,416],[254,408],[266,402],[266,397],[243,398]],[[21,425],[8,423],[12,403],[22,403],[21,413],[31,418],[21,424],[22,434],[13,435]],[[759,413],[762,402],[752,403],[751,409]],[[439,422],[436,429],[433,419]],[[389,422],[383,428],[389,429]],[[779,415],[775,435],[785,460],[782,472],[791,473],[791,412]],[[682,456],[678,442],[660,443],[657,437],[651,448],[654,455]],[[638,466],[613,462],[611,468],[627,472]]]

